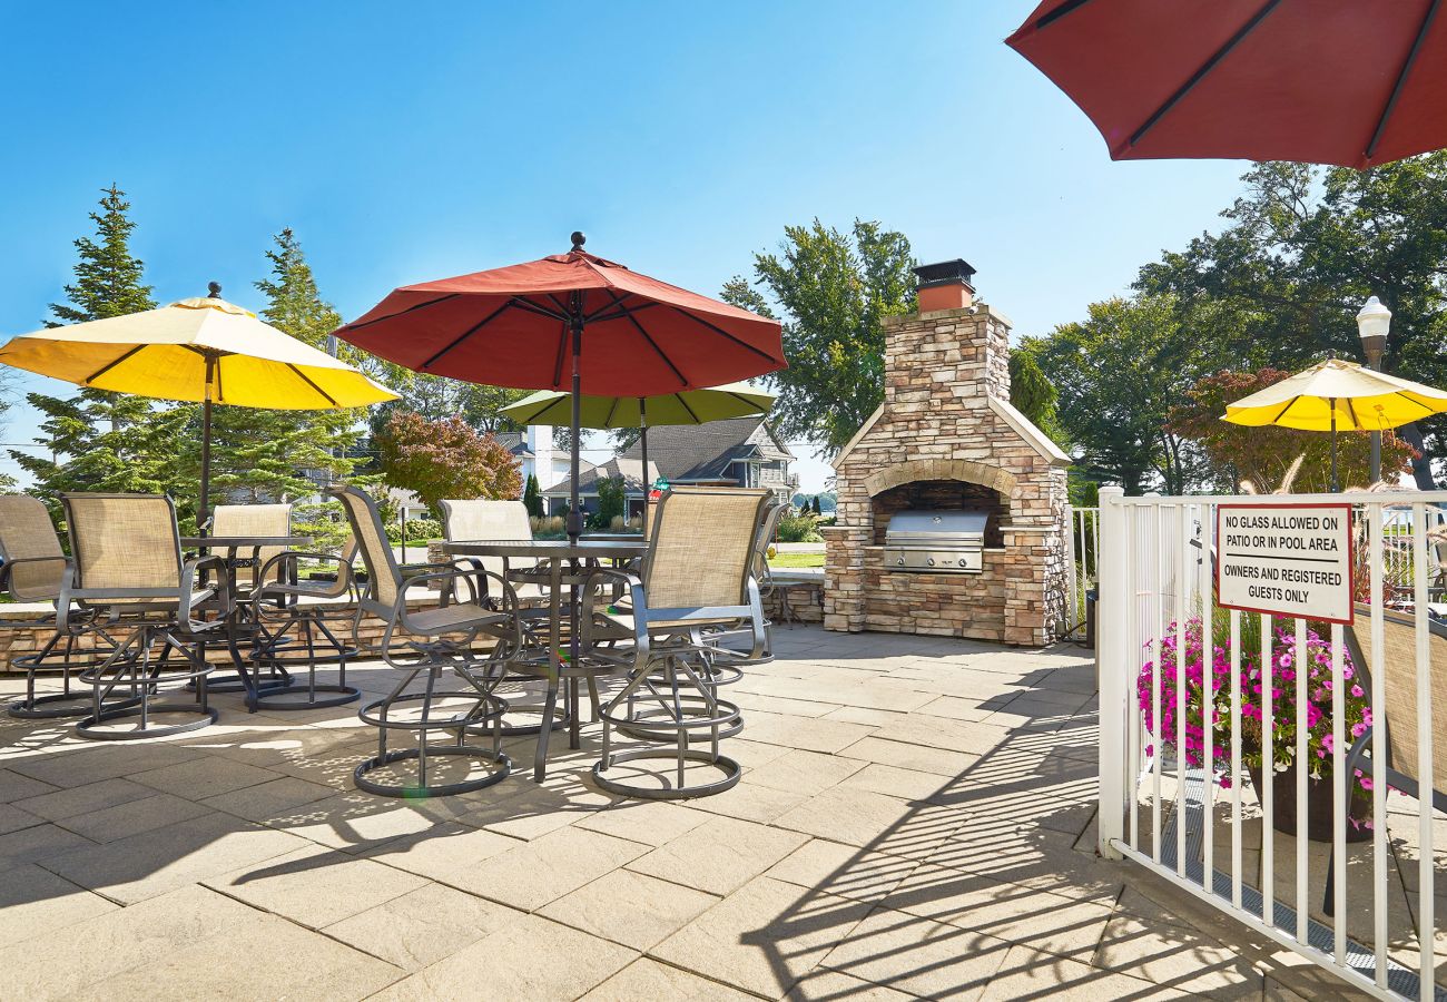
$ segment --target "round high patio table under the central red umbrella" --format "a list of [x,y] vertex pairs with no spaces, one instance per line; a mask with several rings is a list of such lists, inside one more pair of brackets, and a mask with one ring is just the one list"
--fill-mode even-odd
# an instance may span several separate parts
[[[641,557],[648,552],[648,542],[642,537],[632,539],[579,539],[576,542],[566,539],[495,539],[495,540],[449,540],[441,544],[443,552],[449,556],[493,556],[493,557],[532,557],[540,562],[540,572],[547,573],[547,588],[548,588],[548,640],[547,644],[547,663],[550,678],[561,678],[563,673],[563,659],[557,649],[556,639],[560,636],[563,628],[563,586],[567,585],[570,589],[569,595],[569,663],[574,668],[579,665],[579,636],[577,636],[577,604],[579,604],[579,589],[586,581],[586,571],[598,566],[601,560],[632,560]],[[564,572],[564,562],[567,562],[567,572]],[[580,747],[579,740],[579,724],[577,724],[577,679],[579,673],[570,675],[567,679],[567,701],[569,701],[569,728],[567,740],[569,747]],[[547,727],[547,721],[543,724]],[[546,770],[546,743],[538,741],[538,757],[534,762],[532,772],[534,778],[541,782],[543,773]]]

